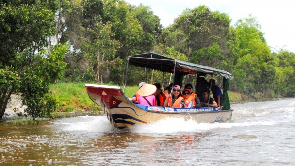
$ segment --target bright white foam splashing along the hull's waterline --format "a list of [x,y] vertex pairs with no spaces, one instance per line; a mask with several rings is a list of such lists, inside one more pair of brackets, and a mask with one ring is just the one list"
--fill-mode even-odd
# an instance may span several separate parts
[[197,123],[193,119],[170,117],[150,124],[134,125],[128,130],[119,130],[112,126],[105,116],[78,116],[53,123],[63,131],[83,133],[202,133],[217,128],[277,124],[275,121],[234,122],[233,120],[226,123]]

